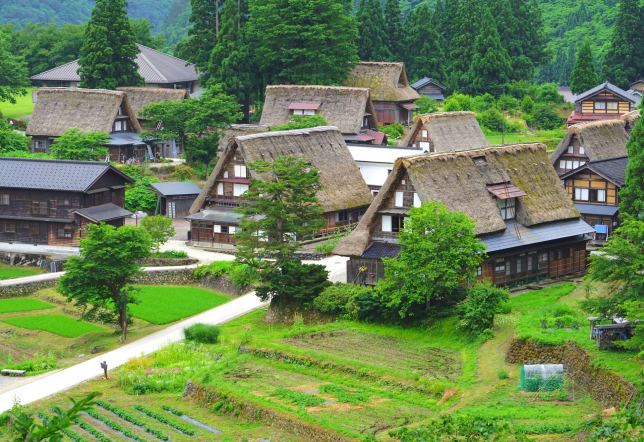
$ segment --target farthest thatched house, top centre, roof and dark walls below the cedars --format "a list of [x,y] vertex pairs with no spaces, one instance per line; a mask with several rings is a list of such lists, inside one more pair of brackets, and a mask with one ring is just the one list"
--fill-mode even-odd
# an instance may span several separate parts
[[376,118],[382,124],[410,125],[418,109],[414,101],[420,95],[409,86],[404,63],[360,62],[349,72],[344,85],[371,90]]

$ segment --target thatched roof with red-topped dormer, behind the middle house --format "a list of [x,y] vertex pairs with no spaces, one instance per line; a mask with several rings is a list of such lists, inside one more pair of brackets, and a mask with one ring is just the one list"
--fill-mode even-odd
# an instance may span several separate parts
[[365,112],[371,114],[370,127],[378,128],[369,89],[342,86],[275,85],[266,87],[260,124],[281,126],[291,119],[294,102],[319,103],[318,113],[343,134],[359,134]]

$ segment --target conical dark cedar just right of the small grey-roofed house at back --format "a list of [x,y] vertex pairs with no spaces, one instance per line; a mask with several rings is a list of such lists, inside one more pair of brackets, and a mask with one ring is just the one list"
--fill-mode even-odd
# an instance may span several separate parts
[[507,51],[501,45],[501,38],[494,19],[487,6],[482,6],[481,27],[474,43],[470,80],[477,95],[490,93],[498,97],[509,80],[512,66]]

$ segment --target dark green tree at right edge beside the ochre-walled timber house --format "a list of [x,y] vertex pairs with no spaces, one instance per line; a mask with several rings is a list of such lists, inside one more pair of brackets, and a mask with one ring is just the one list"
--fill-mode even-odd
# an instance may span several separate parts
[[619,191],[619,216],[644,220],[644,118],[640,118],[626,144],[626,184]]

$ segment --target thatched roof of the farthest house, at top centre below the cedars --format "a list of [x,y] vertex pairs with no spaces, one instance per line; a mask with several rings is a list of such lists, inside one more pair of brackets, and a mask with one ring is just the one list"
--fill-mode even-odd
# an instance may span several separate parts
[[418,92],[409,86],[404,63],[362,61],[349,72],[344,85],[371,89],[373,101],[414,101],[420,98]]

